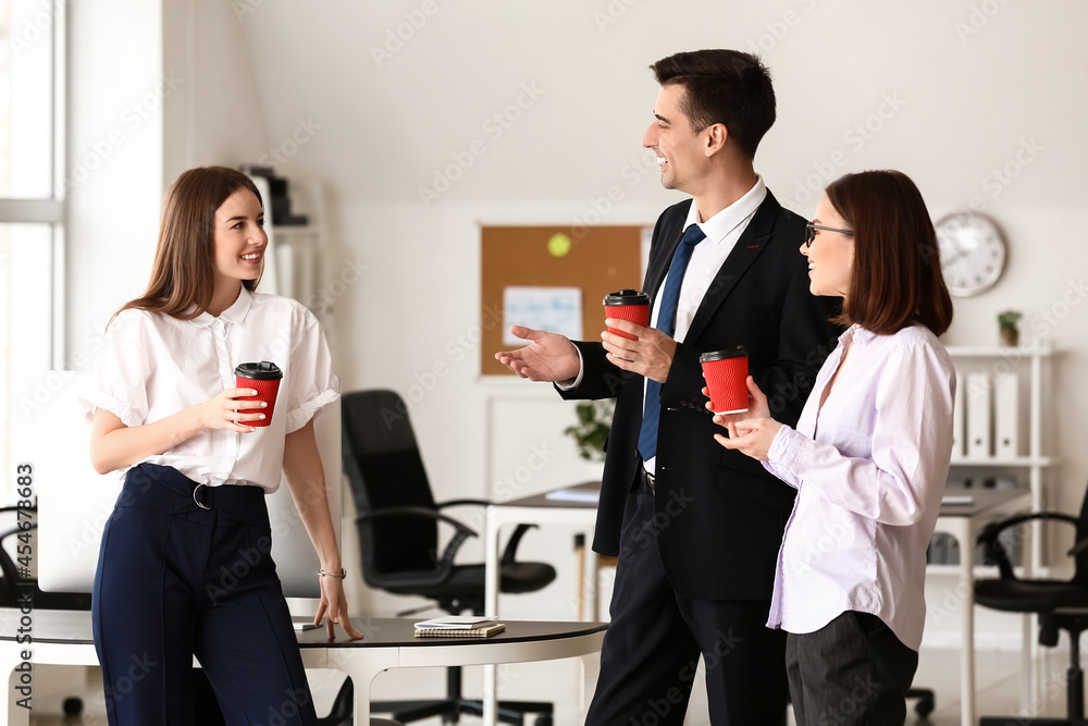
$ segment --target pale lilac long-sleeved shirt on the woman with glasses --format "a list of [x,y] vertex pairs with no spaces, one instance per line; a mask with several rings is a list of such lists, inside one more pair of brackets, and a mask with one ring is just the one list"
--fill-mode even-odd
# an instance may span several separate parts
[[[828,381],[850,355],[819,409]],[[783,426],[764,465],[798,489],[778,555],[767,625],[819,630],[870,613],[912,650],[926,620],[926,547],[952,455],[955,369],[922,325],[839,339],[798,429]]]

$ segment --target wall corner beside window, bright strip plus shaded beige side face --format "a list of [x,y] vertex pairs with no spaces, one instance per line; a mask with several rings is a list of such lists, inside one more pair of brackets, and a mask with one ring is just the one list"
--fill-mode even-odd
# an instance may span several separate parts
[[106,0],[67,13],[65,357],[86,368],[109,317],[147,284],[166,186],[189,167],[258,159],[268,144],[230,4]]

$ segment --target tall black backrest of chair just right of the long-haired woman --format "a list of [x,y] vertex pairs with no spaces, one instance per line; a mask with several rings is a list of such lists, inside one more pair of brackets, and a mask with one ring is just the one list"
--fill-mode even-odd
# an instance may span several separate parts
[[[404,399],[393,391],[344,394],[344,473],[360,515],[387,507],[434,508]],[[382,576],[435,569],[437,522],[390,516],[359,526],[363,577],[382,587]]]

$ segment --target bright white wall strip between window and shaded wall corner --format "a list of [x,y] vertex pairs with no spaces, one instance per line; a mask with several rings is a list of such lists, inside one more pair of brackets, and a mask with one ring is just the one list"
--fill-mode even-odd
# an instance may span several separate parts
[[147,283],[162,195],[162,99],[178,76],[163,66],[158,3],[66,8],[65,357],[86,368],[110,315]]

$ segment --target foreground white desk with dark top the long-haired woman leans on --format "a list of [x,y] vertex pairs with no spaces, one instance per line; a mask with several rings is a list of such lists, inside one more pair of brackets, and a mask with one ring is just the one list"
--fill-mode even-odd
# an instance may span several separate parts
[[[16,643],[17,611],[0,611],[0,673],[14,674],[21,652],[33,651],[32,664],[98,665],[91,639],[90,613],[85,611],[35,611],[34,643]],[[298,633],[302,664],[307,668],[334,668],[355,681],[355,723],[370,721],[370,687],[383,670],[406,667],[483,665],[549,661],[589,655],[601,650],[606,625],[601,623],[506,622],[507,629],[485,640],[423,639],[412,635],[413,620],[372,618],[367,638],[346,637],[329,641],[324,629]],[[494,667],[494,666],[492,666]],[[0,726],[27,726],[29,712],[15,705],[18,698],[9,680],[8,705],[0,707]],[[33,701],[32,701],[33,703]]]

